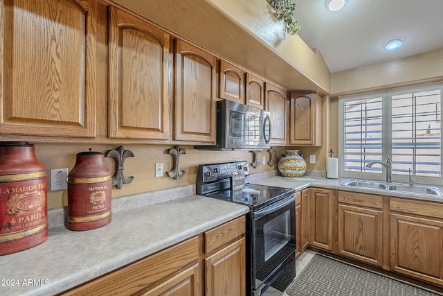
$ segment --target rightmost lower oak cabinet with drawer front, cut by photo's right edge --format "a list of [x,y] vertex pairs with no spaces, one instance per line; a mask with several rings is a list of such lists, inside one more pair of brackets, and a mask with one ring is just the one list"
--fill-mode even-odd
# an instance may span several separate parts
[[443,204],[392,198],[390,209],[391,270],[443,285]]

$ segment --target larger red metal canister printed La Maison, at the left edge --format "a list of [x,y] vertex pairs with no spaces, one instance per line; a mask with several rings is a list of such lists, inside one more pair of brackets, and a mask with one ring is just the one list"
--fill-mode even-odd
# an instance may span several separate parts
[[0,142],[0,255],[48,238],[46,168],[28,142]]

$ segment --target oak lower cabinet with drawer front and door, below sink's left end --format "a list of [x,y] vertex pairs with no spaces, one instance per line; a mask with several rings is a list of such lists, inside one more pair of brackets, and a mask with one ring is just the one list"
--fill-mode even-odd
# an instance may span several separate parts
[[338,254],[383,265],[383,197],[338,191]]

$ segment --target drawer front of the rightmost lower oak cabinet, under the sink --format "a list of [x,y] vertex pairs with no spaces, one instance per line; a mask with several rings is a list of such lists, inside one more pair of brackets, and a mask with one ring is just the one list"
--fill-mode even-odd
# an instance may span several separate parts
[[433,218],[443,218],[443,204],[418,200],[390,199],[390,210]]

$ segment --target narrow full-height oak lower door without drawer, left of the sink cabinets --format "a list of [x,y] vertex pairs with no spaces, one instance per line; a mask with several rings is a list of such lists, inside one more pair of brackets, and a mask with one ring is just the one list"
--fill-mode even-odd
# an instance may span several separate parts
[[332,251],[336,238],[336,201],[334,191],[311,189],[310,192],[310,239],[314,247]]

